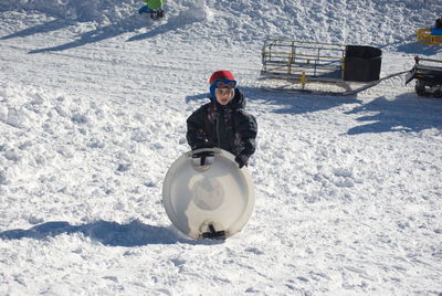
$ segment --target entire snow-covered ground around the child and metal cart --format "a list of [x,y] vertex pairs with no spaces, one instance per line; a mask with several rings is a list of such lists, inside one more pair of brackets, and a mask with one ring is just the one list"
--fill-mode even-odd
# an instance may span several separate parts
[[[442,101],[269,93],[271,38],[381,47],[411,68],[440,1],[0,3],[0,295],[441,295]],[[161,204],[186,118],[228,68],[259,123],[254,213],[192,241]]]

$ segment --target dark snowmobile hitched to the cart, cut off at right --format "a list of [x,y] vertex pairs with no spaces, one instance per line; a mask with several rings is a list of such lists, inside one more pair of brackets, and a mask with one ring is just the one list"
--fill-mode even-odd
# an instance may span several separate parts
[[406,76],[406,85],[415,80],[418,96],[442,97],[442,60],[414,56],[415,64]]

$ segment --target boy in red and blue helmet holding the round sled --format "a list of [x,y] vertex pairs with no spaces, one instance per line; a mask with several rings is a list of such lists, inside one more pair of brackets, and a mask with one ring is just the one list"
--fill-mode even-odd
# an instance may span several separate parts
[[219,147],[233,154],[240,168],[248,166],[255,151],[256,120],[244,110],[245,98],[232,73],[217,71],[209,84],[211,102],[187,119],[187,141],[192,150]]

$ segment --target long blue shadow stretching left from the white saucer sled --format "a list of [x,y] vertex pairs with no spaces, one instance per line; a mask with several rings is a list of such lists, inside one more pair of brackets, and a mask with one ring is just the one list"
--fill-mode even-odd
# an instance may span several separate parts
[[[29,230],[9,230],[0,232],[2,240],[34,239],[45,240],[60,234],[82,233],[108,246],[141,246],[149,244],[201,243],[178,236],[172,230],[131,221],[128,224],[97,221],[84,225],[71,225],[69,222],[54,221],[35,225]],[[203,242],[210,243],[210,242]]]

